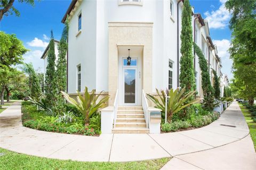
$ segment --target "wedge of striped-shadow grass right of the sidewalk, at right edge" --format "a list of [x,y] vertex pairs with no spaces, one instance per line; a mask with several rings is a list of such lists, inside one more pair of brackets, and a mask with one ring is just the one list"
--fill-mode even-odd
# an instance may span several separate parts
[[244,118],[249,126],[250,135],[256,151],[256,105],[249,105],[247,103],[239,104]]

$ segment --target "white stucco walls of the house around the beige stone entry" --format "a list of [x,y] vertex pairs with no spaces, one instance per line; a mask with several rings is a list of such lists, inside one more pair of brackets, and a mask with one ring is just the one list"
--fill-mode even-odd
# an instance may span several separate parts
[[[81,1],[69,21],[68,49],[68,93],[77,89],[77,65],[81,64],[81,91],[108,91],[108,23],[109,22],[151,22],[153,23],[152,91],[166,89],[168,85],[169,59],[173,61],[173,88],[177,88],[177,24],[181,31],[183,3],[179,4],[179,23],[177,22],[177,0],[173,0],[173,16],[170,15],[170,1],[142,1],[143,5],[118,5],[119,1]],[[195,9],[196,11],[196,9]],[[82,12],[82,31],[78,31],[78,14]],[[191,16],[194,32],[194,16]],[[202,47],[202,38],[209,36],[207,27],[196,24],[197,45]],[[203,37],[202,37],[203,36]],[[127,42],[129,43],[129,42]],[[180,48],[180,38],[179,38]],[[208,60],[208,54],[205,55]],[[179,54],[179,58],[181,54]],[[214,54],[211,67],[215,69]],[[195,70],[199,96],[202,97],[201,70],[196,56]]]

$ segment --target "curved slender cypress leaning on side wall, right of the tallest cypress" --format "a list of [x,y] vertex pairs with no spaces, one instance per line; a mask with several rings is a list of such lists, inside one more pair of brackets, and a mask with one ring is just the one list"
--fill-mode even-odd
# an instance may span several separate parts
[[212,111],[214,107],[214,90],[211,85],[208,64],[202,50],[196,45],[196,43],[194,43],[194,50],[198,56],[199,66],[201,69],[202,89],[204,95],[203,105],[205,109]]

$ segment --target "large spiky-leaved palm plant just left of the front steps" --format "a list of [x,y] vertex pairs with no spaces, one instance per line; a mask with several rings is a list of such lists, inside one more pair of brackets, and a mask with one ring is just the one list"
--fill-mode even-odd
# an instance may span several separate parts
[[88,88],[85,87],[84,95],[82,96],[78,92],[77,101],[71,97],[69,97],[66,92],[61,91],[62,95],[65,99],[72,105],[76,106],[76,108],[84,115],[85,117],[85,125],[89,125],[89,118],[93,113],[98,111],[99,108],[104,107],[106,104],[105,102],[108,101],[109,96],[106,96],[99,100],[97,103],[98,98],[100,97],[102,91],[99,95],[95,94],[95,89],[93,89],[90,93],[88,92]]

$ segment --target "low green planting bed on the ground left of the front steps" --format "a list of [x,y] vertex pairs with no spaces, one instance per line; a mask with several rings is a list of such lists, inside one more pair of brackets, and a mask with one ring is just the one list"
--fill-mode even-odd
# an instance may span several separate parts
[[100,115],[95,113],[90,119],[90,125],[85,126],[84,116],[72,105],[66,104],[66,113],[47,115],[37,109],[30,101],[23,101],[21,106],[22,124],[31,129],[47,132],[99,136]]

